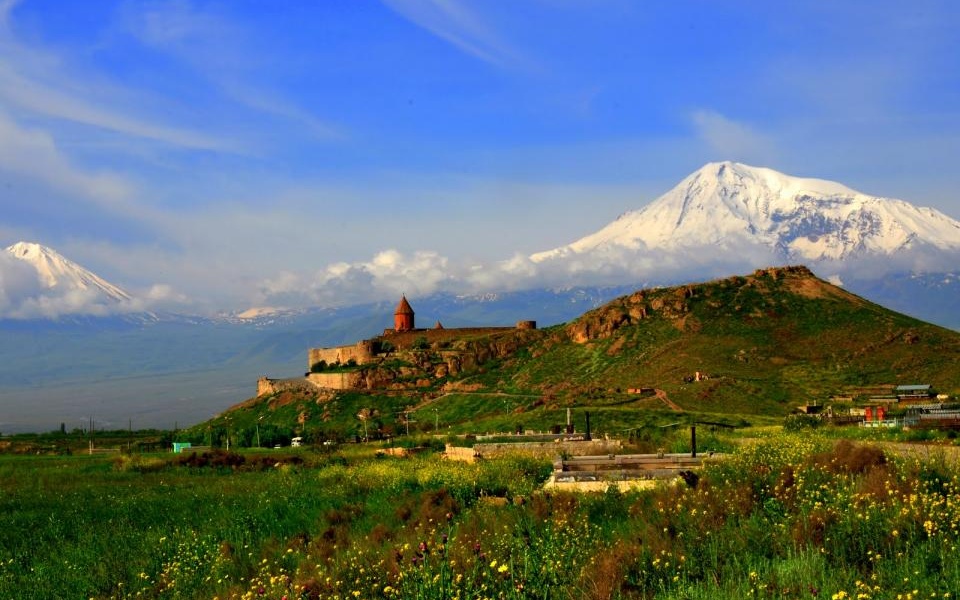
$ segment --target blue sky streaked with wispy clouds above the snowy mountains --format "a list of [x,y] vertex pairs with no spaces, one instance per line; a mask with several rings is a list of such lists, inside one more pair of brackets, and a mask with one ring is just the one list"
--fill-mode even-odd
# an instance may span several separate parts
[[203,311],[518,286],[482,267],[717,160],[958,218],[958,30],[949,1],[0,0],[0,245]]

